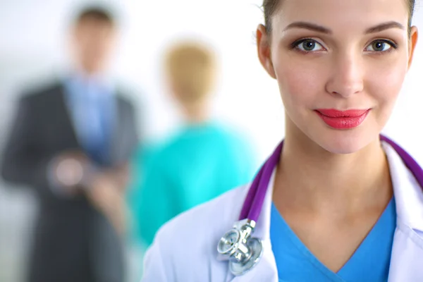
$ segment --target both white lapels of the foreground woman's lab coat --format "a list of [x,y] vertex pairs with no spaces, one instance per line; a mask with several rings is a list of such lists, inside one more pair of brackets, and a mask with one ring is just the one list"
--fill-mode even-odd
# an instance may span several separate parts
[[[423,258],[423,189],[393,147],[386,142],[383,142],[382,146],[391,170],[398,217],[389,282],[422,281],[416,279],[423,278],[423,267],[415,261],[420,262]],[[228,271],[226,281],[278,281],[278,271],[270,241],[270,214],[275,173],[276,169],[269,181],[262,212],[253,233],[254,237],[262,239],[262,259],[255,268],[243,276],[233,276],[231,271]]]

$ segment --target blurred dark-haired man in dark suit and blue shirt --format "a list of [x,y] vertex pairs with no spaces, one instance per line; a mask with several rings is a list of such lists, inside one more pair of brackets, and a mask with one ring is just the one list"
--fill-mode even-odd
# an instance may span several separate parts
[[39,199],[31,282],[124,281],[123,193],[138,141],[133,106],[105,75],[117,35],[108,9],[83,9],[73,71],[20,99],[1,173]]

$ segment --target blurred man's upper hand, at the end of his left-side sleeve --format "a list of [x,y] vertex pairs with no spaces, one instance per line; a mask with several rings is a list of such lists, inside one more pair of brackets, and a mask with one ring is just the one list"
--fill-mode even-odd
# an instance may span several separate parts
[[68,194],[75,195],[89,164],[87,156],[78,150],[64,152],[54,159],[52,166],[54,180]]

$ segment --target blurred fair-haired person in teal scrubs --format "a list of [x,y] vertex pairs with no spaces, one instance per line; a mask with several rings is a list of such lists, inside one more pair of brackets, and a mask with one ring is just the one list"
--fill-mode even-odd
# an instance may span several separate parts
[[135,236],[145,247],[166,221],[248,183],[256,169],[245,137],[209,117],[214,52],[197,42],[179,42],[168,50],[164,66],[185,124],[163,144],[140,148],[133,161],[137,178],[128,202]]

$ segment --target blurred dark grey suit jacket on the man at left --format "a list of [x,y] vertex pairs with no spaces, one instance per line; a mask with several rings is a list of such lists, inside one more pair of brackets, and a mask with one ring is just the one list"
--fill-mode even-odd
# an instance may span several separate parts
[[[65,150],[81,149],[64,91],[57,83],[20,99],[4,150],[4,179],[30,186],[40,203],[29,281],[122,282],[123,246],[109,221],[84,195],[56,194],[47,178],[51,159]],[[120,95],[116,105],[110,166],[128,161],[137,145],[133,106]]]

